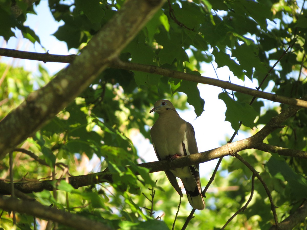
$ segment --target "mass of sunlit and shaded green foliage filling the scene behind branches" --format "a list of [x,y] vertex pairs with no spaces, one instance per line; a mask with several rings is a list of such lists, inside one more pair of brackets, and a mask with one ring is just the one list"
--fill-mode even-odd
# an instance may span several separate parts
[[[48,2],[54,19],[64,23],[53,36],[64,41],[68,49],[84,47],[124,3],[106,0]],[[21,9],[17,17],[11,8],[15,4]],[[307,66],[307,10],[306,4],[302,4],[304,1],[171,0],[135,36],[119,58],[196,75],[200,75],[204,62],[215,60],[217,68],[227,66],[235,79],[244,81],[247,77],[258,84],[264,80],[259,85],[262,90],[272,89],[278,95],[299,98],[307,92],[306,74],[303,74]],[[32,43],[39,43],[40,38],[33,30],[23,25],[27,13],[35,12],[25,1],[0,0],[0,36],[9,40],[20,30]],[[288,47],[290,50],[285,53]],[[277,60],[277,66],[269,73]],[[50,81],[51,76],[42,66],[39,71],[40,76],[36,76],[1,63],[0,119],[21,104],[34,90],[33,85],[42,87]],[[65,177],[62,173],[66,166],[73,176],[108,168],[112,174],[111,184],[103,182],[74,189],[63,180],[52,183],[58,189],[57,196],[47,190],[30,196],[44,205],[56,205],[114,229],[171,228],[179,195],[163,172],[149,174],[148,169],[135,166],[142,159],[131,136],[138,132],[150,139],[149,127],[157,115],[149,114],[149,110],[161,98],[171,98],[178,109],[186,109],[188,102],[199,117],[204,111],[205,98],[201,98],[197,86],[196,82],[154,73],[106,69],[78,98],[18,146],[33,152],[45,164],[14,152],[14,179],[49,179],[52,172],[56,178]],[[252,128],[262,128],[288,107],[265,106],[262,100],[249,105],[252,97],[239,93],[235,93],[235,98],[221,93],[218,99],[226,104],[225,120],[235,132],[242,121],[248,127],[247,136],[255,133]],[[306,124],[307,115],[300,110],[284,122],[286,128],[272,132],[264,142],[307,151]],[[278,206],[279,221],[296,211],[307,198],[306,159],[258,150],[239,154],[260,173],[271,191],[274,204]],[[126,167],[128,165],[131,167]],[[1,178],[9,179],[8,168],[6,157],[0,162]],[[251,178],[251,171],[238,159],[225,157],[206,194],[206,209],[196,211],[188,228],[222,228],[249,199]],[[206,182],[202,178],[203,186]],[[150,198],[152,189],[155,190],[154,214],[149,212],[151,200],[146,198]],[[186,197],[182,198],[175,229],[182,228],[190,210]],[[9,229],[12,219],[4,213],[0,227]],[[256,178],[253,199],[247,210],[239,213],[227,228],[269,229],[272,224],[270,201]],[[306,224],[306,220],[302,221],[294,229],[306,228]],[[33,228],[33,217],[17,213],[17,228]],[[59,229],[68,228],[59,225]]]

